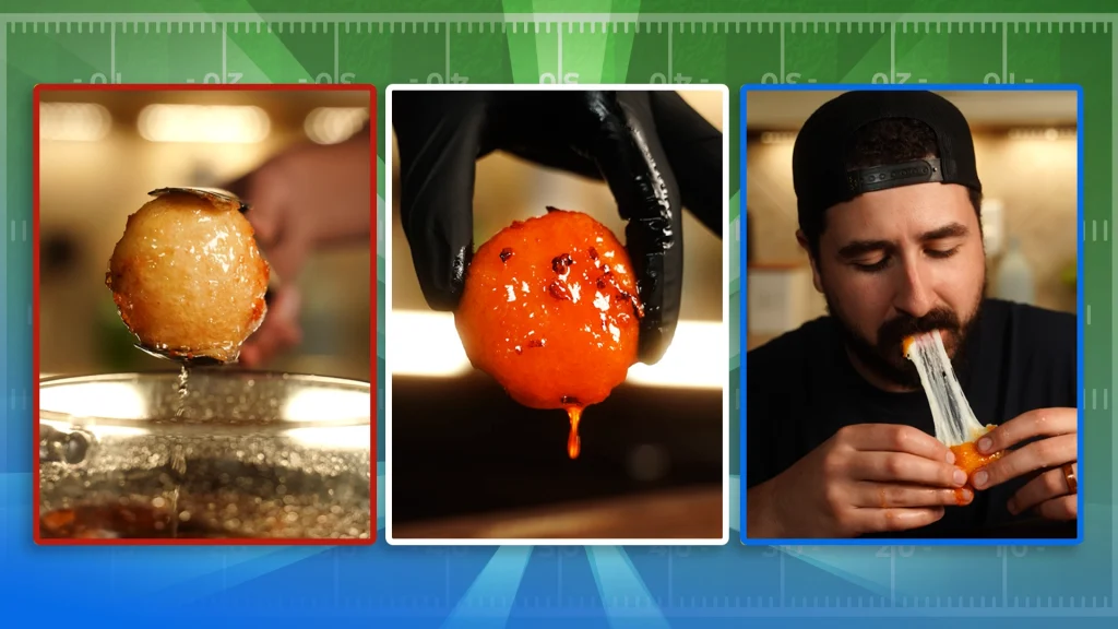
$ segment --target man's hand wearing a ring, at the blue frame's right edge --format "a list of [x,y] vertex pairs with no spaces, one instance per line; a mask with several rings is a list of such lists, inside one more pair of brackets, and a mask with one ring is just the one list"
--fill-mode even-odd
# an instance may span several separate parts
[[1007,450],[1022,441],[1040,438],[1006,452],[976,471],[975,489],[989,489],[1007,480],[1046,470],[1010,498],[1006,508],[1016,515],[1032,509],[1041,517],[1071,520],[1079,516],[1078,481],[1070,486],[1063,467],[1071,466],[1079,478],[1079,413],[1076,409],[1040,409],[1017,415],[986,433],[975,445],[988,454]]

